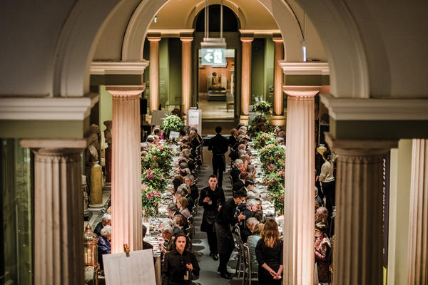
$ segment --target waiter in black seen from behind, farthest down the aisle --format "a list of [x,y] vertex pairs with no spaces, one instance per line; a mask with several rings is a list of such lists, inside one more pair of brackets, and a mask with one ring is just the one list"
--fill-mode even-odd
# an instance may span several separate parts
[[221,127],[215,127],[217,135],[210,139],[208,150],[213,151],[213,174],[218,177],[218,186],[221,188],[223,172],[226,170],[225,153],[229,149],[228,139],[221,135]]

